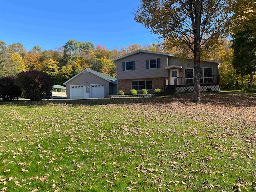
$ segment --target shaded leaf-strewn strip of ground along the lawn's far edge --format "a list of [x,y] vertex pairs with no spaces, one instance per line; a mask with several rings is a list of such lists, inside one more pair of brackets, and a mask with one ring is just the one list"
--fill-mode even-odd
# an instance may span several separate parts
[[[14,100],[12,102],[0,101],[1,105],[7,106],[27,106],[28,108],[44,106],[48,104],[66,104],[68,107],[79,105],[107,105],[107,104],[164,104],[170,102],[192,103],[193,93],[175,94],[170,96],[153,96],[151,98],[131,97],[131,98],[97,98],[97,99],[79,99],[79,100],[42,100],[42,101],[24,101]],[[246,107],[256,106],[256,95],[232,92],[202,92],[201,102],[219,106]]]

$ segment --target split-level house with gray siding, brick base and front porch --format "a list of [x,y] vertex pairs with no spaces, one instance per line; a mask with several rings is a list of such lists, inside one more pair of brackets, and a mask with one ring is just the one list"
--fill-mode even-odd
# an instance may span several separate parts
[[[129,94],[131,89],[148,90],[156,88],[164,92],[193,92],[194,69],[192,58],[176,58],[162,52],[137,50],[115,58],[118,90]],[[219,91],[219,61],[200,62],[201,90]]]

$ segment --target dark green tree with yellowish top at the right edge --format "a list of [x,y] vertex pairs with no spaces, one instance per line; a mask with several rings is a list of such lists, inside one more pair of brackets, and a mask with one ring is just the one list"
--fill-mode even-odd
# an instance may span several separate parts
[[256,2],[254,0],[236,0],[232,6],[232,64],[241,76],[250,75],[252,86],[256,72]]

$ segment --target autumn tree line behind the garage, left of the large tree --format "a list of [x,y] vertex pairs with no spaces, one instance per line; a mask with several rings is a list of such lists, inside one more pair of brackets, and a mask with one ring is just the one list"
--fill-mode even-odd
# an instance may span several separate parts
[[21,43],[6,45],[0,40],[0,78],[17,76],[20,72],[39,70],[54,78],[55,84],[62,85],[84,68],[116,77],[114,58],[138,49],[161,51],[154,43],[146,46],[131,44],[122,48],[107,50],[105,46],[95,46],[92,42],[68,40],[55,50],[42,50],[34,46],[30,51]]

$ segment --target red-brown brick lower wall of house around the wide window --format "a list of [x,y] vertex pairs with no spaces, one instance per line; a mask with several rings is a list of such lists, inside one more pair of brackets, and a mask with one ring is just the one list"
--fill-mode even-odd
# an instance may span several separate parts
[[[132,89],[132,81],[139,81],[139,80],[152,80],[152,90],[148,90],[148,94],[153,93],[156,88],[164,91],[164,79],[165,79],[165,77],[118,80],[118,91],[122,90],[124,92],[124,94],[130,94],[130,90]],[[140,91],[138,91],[138,94],[139,93],[140,93]]]

